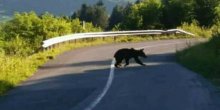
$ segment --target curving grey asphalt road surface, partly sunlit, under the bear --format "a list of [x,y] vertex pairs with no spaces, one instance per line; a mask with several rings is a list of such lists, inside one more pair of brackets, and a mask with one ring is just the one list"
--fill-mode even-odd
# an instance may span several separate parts
[[[0,110],[220,110],[219,92],[176,63],[174,53],[186,42],[120,43],[65,52],[1,97]],[[112,57],[124,47],[145,47],[149,57],[141,60],[147,66],[131,61],[126,68],[112,68],[107,84]]]

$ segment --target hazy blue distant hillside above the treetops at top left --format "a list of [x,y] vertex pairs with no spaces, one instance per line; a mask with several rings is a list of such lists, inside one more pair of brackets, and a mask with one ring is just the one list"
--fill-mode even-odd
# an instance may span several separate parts
[[[13,15],[14,12],[35,11],[38,14],[45,11],[55,15],[71,15],[78,10],[81,4],[94,4],[98,0],[1,0],[0,10],[4,15]],[[126,4],[136,0],[103,0],[109,13],[116,4]]]

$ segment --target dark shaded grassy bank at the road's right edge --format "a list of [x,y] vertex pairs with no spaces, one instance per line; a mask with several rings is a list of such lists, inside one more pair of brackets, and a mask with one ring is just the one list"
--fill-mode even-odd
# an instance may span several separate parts
[[220,87],[220,37],[211,39],[181,52],[177,60],[185,67],[201,74]]

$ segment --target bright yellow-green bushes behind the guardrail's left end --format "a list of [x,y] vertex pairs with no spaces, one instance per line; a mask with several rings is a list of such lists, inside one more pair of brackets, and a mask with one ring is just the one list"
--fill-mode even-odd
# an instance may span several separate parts
[[35,12],[16,13],[12,20],[0,27],[0,47],[6,54],[27,56],[37,52],[43,40],[93,31],[101,31],[101,28],[85,23],[84,29],[79,19],[68,20],[50,13],[41,16]]

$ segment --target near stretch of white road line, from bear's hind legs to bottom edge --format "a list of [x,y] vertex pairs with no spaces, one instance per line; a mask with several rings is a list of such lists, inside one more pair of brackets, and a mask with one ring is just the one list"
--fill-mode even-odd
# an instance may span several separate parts
[[115,71],[115,59],[112,60],[108,81],[107,81],[102,93],[99,94],[98,97],[85,110],[92,110],[93,108],[95,108],[95,106],[102,100],[102,98],[108,92],[110,86],[112,85],[113,79],[114,79],[114,71]]

